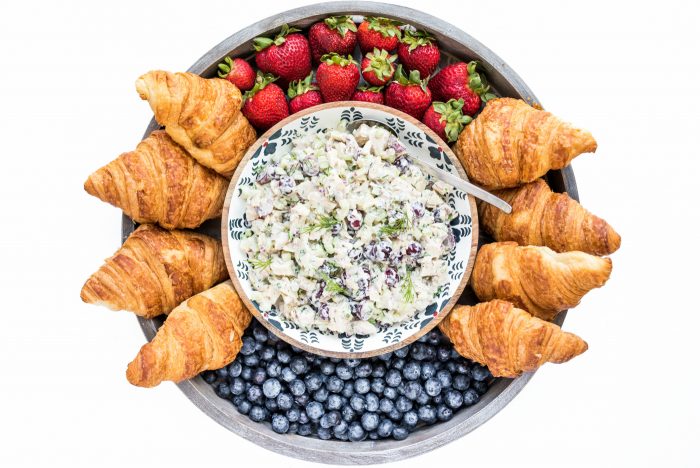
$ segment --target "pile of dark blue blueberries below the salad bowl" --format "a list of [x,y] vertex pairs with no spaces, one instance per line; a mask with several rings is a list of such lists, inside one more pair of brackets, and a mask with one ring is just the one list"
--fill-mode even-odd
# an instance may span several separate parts
[[403,440],[473,405],[493,380],[438,330],[375,358],[336,359],[294,348],[253,322],[236,360],[202,377],[240,413],[281,434]]

